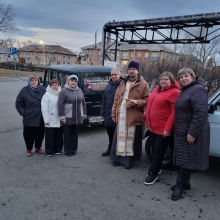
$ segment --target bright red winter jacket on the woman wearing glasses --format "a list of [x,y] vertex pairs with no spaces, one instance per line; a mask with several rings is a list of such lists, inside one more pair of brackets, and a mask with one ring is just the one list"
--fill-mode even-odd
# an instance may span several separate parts
[[175,103],[180,95],[179,84],[175,82],[167,89],[156,87],[147,100],[146,124],[148,129],[163,135],[164,130],[173,134]]

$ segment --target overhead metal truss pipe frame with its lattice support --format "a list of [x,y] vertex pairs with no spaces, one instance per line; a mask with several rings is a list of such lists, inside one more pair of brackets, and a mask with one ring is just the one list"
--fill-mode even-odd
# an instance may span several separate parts
[[[199,28],[195,34],[193,28]],[[175,17],[113,21],[103,27],[101,64],[110,59],[110,48],[114,60],[117,58],[119,42],[129,44],[192,44],[210,43],[220,36],[220,12],[184,15]]]

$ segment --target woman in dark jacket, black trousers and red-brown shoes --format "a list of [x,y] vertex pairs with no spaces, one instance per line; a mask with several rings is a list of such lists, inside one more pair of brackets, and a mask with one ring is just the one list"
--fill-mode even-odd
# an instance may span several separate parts
[[33,145],[35,152],[43,154],[41,149],[44,139],[44,121],[41,113],[41,99],[46,89],[40,85],[37,75],[30,75],[28,85],[23,87],[16,99],[16,109],[23,116],[23,136],[26,144],[26,156],[32,156]]

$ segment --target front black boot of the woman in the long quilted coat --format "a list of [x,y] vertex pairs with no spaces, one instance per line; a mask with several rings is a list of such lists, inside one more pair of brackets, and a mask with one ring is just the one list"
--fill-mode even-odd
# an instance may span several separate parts
[[179,200],[183,194],[183,187],[185,185],[186,179],[189,178],[190,173],[186,169],[179,169],[178,177],[176,180],[175,189],[171,196],[173,201]]

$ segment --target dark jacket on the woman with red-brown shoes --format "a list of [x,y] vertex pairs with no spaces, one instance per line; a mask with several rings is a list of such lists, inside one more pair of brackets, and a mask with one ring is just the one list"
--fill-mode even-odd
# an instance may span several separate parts
[[23,116],[23,124],[27,127],[40,127],[44,124],[41,113],[41,99],[46,92],[43,86],[37,91],[25,86],[18,93],[15,107],[18,113]]

